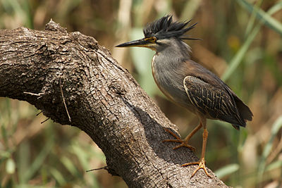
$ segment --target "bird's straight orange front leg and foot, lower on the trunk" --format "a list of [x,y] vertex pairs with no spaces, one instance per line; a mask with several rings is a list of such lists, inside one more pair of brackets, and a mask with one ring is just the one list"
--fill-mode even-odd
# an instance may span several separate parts
[[204,173],[206,173],[206,175],[208,177],[212,177],[211,175],[209,175],[209,173],[207,173],[207,168],[205,165],[205,161],[204,161],[204,153],[206,151],[206,145],[207,145],[207,136],[208,136],[209,132],[207,131],[207,128],[204,126],[204,132],[203,132],[203,143],[202,143],[202,156],[200,161],[198,162],[192,162],[192,163],[186,163],[183,164],[182,166],[188,166],[188,165],[198,165],[197,169],[194,171],[194,173],[192,173],[191,177],[193,177],[195,175],[195,173],[197,173],[198,170],[200,170],[201,168],[204,170]]

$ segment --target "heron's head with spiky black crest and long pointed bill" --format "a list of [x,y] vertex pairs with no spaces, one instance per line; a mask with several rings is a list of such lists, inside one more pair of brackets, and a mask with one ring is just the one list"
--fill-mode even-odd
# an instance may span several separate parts
[[131,42],[125,42],[123,44],[119,44],[116,47],[138,46],[146,47],[154,51],[159,51],[159,49],[163,49],[165,46],[171,45],[177,40],[195,40],[196,38],[190,38],[184,35],[185,32],[188,32],[189,30],[194,28],[197,24],[195,23],[187,27],[190,21],[191,20],[189,20],[188,22],[173,22],[172,15],[166,15],[162,18],[159,18],[159,20],[148,23],[144,27],[144,38]]

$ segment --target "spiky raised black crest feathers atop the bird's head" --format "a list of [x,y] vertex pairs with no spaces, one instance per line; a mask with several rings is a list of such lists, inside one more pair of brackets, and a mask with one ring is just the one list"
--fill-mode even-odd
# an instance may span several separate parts
[[173,22],[172,15],[166,15],[159,20],[155,20],[152,23],[148,23],[143,29],[145,37],[157,37],[157,39],[167,39],[170,37],[176,37],[179,39],[194,39],[189,37],[181,37],[192,28],[195,24],[186,27],[191,20],[188,22]]

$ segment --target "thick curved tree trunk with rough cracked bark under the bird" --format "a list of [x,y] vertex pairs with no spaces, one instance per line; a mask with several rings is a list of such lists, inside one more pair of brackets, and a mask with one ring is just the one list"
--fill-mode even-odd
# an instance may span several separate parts
[[53,21],[44,31],[0,30],[0,96],[86,132],[128,187],[227,187],[211,170],[212,178],[203,170],[190,178],[196,166],[181,164],[197,161],[195,154],[161,142],[172,138],[164,127],[176,132],[176,125],[94,38]]

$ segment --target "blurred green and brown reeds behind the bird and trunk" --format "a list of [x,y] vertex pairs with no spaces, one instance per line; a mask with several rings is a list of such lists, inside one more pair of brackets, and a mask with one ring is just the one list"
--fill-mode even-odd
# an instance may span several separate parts
[[[185,137],[197,117],[168,101],[152,79],[149,49],[116,49],[163,15],[192,19],[192,57],[245,101],[254,120],[240,132],[208,121],[207,166],[233,187],[282,187],[282,1],[0,0],[0,29],[43,30],[52,18],[97,39],[132,73]],[[54,124],[30,104],[0,98],[0,187],[126,187],[102,151],[75,127]],[[201,132],[191,140],[200,155]],[[185,178],[185,177],[183,177]]]

